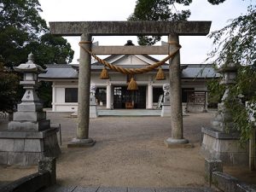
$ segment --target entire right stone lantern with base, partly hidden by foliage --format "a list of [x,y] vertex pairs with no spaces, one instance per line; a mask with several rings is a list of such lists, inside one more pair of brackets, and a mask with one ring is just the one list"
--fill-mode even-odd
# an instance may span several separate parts
[[[221,102],[218,103],[218,111],[212,119],[212,126],[201,128],[201,153],[208,159],[222,160],[224,165],[247,165],[249,162],[247,145],[241,146],[240,133],[234,130],[233,119],[224,105],[229,96],[230,84],[236,83],[236,72],[237,66],[234,63],[218,70],[223,76],[220,84],[224,84],[226,90]],[[236,98],[234,100],[239,102]]]

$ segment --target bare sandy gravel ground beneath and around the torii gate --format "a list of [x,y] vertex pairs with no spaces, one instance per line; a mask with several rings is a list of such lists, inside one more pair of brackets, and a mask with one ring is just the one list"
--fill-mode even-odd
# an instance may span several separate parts
[[[213,113],[183,117],[183,135],[195,148],[166,148],[171,119],[161,117],[100,117],[90,119],[92,148],[67,148],[75,137],[76,118],[69,113],[48,113],[51,123],[61,123],[61,157],[57,182],[80,186],[200,187],[204,158],[199,153],[201,126],[210,125]],[[256,183],[255,172],[225,167],[235,177]],[[36,172],[37,167],[0,166],[0,181],[11,181]]]

